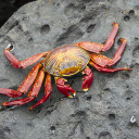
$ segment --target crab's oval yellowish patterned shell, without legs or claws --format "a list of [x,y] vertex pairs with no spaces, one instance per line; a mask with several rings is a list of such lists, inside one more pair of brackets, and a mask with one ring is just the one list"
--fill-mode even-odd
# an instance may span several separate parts
[[71,45],[53,49],[45,59],[43,68],[54,76],[72,76],[83,71],[90,54],[83,48]]

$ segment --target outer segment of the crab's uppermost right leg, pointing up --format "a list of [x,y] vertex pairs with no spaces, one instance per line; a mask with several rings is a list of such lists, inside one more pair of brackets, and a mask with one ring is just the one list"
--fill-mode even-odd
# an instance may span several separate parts
[[113,25],[114,25],[114,27],[111,30],[103,49],[101,50],[102,52],[109,50],[114,43],[114,39],[115,39],[115,37],[117,35],[117,31],[118,31],[119,27],[118,27],[117,23],[113,23]]

